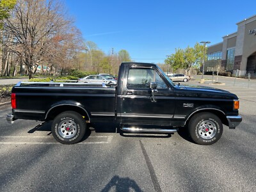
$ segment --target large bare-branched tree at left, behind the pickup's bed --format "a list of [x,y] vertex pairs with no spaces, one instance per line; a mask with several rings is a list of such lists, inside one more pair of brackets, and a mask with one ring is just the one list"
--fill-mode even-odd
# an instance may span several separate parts
[[76,31],[64,10],[63,4],[56,0],[18,0],[12,17],[4,22],[4,30],[12,35],[10,49],[26,65],[29,79],[41,63],[60,58],[60,54],[52,52],[52,47],[60,49],[62,45],[63,51],[70,40],[70,31]]

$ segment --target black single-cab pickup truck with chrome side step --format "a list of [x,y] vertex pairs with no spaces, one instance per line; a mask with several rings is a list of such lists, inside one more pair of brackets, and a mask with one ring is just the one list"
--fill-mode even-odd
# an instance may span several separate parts
[[13,86],[12,114],[6,120],[52,120],[60,143],[82,140],[88,123],[112,123],[118,132],[185,130],[200,145],[218,141],[223,124],[242,121],[233,93],[202,86],[174,84],[151,63],[122,63],[113,84],[30,83]]

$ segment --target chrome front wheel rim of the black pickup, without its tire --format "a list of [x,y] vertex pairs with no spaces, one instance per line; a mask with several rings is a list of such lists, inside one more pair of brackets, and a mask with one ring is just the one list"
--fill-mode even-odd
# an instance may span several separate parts
[[217,125],[211,120],[205,120],[198,126],[198,135],[204,140],[211,140],[217,132]]

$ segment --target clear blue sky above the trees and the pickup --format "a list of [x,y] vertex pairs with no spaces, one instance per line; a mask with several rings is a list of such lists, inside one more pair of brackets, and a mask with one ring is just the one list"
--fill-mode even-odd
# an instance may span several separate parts
[[84,41],[111,54],[122,49],[132,61],[164,63],[175,49],[196,42],[214,45],[256,15],[256,1],[63,0]]

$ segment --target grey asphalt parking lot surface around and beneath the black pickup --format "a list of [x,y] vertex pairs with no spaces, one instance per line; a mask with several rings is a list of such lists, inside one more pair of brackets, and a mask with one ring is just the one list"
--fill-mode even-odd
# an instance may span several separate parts
[[[216,77],[214,77],[216,78]],[[256,81],[200,76],[181,84],[214,86],[236,93],[243,122],[224,127],[214,145],[201,146],[175,133],[95,132],[76,145],[61,145],[50,124],[5,120],[0,107],[0,191],[255,191]]]

